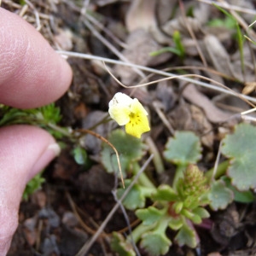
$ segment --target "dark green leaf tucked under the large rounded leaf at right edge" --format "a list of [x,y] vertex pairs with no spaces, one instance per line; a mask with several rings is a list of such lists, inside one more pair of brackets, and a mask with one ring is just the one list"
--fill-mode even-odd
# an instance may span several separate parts
[[234,201],[238,201],[241,203],[250,203],[255,201],[255,196],[253,195],[253,192],[251,190],[247,191],[238,191],[234,186],[232,186],[230,178],[229,177],[221,177],[222,180],[224,180],[224,183],[226,183],[227,188],[231,189],[234,193]]

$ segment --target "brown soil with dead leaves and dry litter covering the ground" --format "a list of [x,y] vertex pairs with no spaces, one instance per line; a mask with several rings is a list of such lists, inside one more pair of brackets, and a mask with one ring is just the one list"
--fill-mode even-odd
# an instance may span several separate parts
[[[20,3],[22,4],[20,5]],[[204,3],[206,2],[206,3]],[[190,73],[225,84],[237,93],[255,96],[255,46],[244,44],[242,71],[236,27],[225,23],[211,26],[214,20],[226,16],[212,1],[2,1],[9,9],[38,28],[56,50],[101,56],[113,61],[131,63],[164,70],[170,73]],[[226,3],[219,1],[220,5]],[[253,23],[256,14],[254,0],[230,0],[226,9],[236,19],[247,37],[256,41]],[[223,6],[221,5],[221,6]],[[39,23],[36,16],[39,17]],[[238,18],[236,15],[239,15]],[[217,22],[217,21],[216,21]],[[177,52],[173,34],[179,32],[183,49]],[[169,48],[169,50],[168,50]],[[172,48],[172,49],[170,49]],[[150,55],[150,53],[167,49]],[[176,52],[173,50],[176,49]],[[136,90],[118,84],[103,66],[102,61],[67,56],[73,68],[73,84],[56,105],[61,108],[61,126],[89,129],[102,121],[108,113],[108,102],[118,92],[136,97],[147,108],[151,137],[160,154],[168,137],[175,131],[194,131],[201,137],[203,155],[199,166],[206,171],[214,166],[220,140],[233,131],[240,119],[231,118],[248,109],[238,97],[219,91],[212,80],[192,76],[191,80],[172,79]],[[130,86],[142,81],[163,78],[160,73],[125,67],[106,61],[108,69],[123,84]],[[150,76],[148,76],[150,75]],[[214,88],[201,86],[201,82]],[[225,89],[224,89],[225,90]],[[96,133],[108,137],[113,126],[96,126]],[[86,136],[84,147],[88,154],[85,166],[73,158],[74,142],[64,141],[65,148],[44,171],[42,189],[20,204],[19,227],[13,238],[9,256],[13,255],[76,255],[111,212],[115,177],[108,174],[100,161],[102,141]],[[185,145],[184,145],[185,147]],[[141,165],[148,159],[145,154]],[[152,181],[171,183],[173,166],[166,163],[166,177],[160,177],[150,163]],[[150,202],[148,202],[150,204]],[[173,244],[166,255],[256,255],[255,204],[233,202],[222,211],[211,212],[207,228],[196,227],[200,243],[196,248]],[[127,211],[131,224],[137,221]],[[209,228],[210,226],[210,228]],[[110,248],[113,231],[129,232],[121,209],[113,214],[106,228],[97,236],[87,255],[117,255]],[[168,233],[170,239],[175,233]],[[139,248],[141,255],[147,255]]]

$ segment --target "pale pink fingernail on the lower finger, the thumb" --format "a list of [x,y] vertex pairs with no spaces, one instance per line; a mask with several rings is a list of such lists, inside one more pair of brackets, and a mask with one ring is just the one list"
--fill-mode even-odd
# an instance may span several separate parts
[[27,181],[34,177],[38,172],[43,171],[44,168],[49,164],[49,162],[53,160],[56,156],[58,156],[60,152],[61,148],[57,143],[49,144],[48,148],[46,148],[44,153],[38,158],[38,160],[32,167]]

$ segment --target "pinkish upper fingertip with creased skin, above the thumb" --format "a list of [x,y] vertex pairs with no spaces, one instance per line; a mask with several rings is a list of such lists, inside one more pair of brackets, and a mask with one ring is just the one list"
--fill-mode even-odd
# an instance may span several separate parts
[[36,108],[54,102],[71,83],[67,61],[34,27],[0,8],[0,103]]

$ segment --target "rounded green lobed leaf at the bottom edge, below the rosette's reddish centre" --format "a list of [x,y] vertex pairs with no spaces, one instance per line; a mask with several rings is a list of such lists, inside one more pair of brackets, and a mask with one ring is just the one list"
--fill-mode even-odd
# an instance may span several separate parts
[[165,233],[152,231],[143,235],[140,245],[149,253],[149,255],[158,256],[168,252],[169,247],[172,245],[172,241]]

